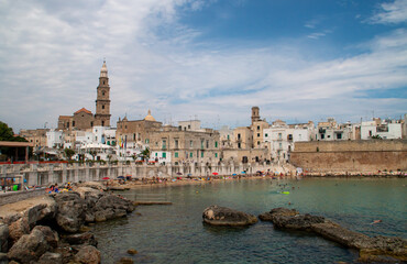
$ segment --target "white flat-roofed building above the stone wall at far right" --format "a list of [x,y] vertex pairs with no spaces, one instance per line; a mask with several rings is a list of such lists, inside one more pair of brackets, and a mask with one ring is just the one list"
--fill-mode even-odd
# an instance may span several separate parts
[[373,121],[365,121],[361,124],[361,139],[371,140],[380,136],[383,140],[402,139],[402,123],[392,120],[374,119]]

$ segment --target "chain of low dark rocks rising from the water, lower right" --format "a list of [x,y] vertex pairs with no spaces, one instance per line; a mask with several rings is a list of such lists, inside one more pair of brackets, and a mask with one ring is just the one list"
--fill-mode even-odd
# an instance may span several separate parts
[[[206,224],[245,227],[257,222],[250,213],[227,207],[210,206],[204,210]],[[320,216],[301,215],[295,209],[275,208],[258,216],[262,221],[273,222],[274,228],[287,231],[312,232],[345,248],[359,251],[358,262],[400,263],[407,262],[407,241],[400,238],[367,237],[351,231]]]

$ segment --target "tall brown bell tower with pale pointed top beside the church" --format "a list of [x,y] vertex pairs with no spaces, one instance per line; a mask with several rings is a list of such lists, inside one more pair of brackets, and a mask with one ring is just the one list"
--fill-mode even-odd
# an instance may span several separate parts
[[108,67],[103,61],[97,88],[95,125],[110,127],[110,86]]

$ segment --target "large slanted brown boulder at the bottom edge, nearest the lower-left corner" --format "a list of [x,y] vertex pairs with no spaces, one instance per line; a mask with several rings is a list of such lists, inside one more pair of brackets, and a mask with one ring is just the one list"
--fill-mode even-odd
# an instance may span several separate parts
[[45,252],[54,249],[57,242],[58,237],[51,228],[37,226],[13,244],[8,257],[19,263],[37,262]]

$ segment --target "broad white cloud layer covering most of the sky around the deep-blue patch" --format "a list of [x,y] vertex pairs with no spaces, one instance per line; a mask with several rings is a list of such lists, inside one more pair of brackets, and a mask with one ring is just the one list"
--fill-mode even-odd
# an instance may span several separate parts
[[197,43],[200,32],[177,18],[180,10],[197,12],[202,4],[191,0],[3,1],[0,120],[19,129],[45,122],[55,128],[59,114],[81,107],[95,111],[103,57],[113,125],[119,116],[139,119],[147,109],[157,120],[197,114],[213,125],[218,119],[220,124],[248,124],[252,106],[260,106],[264,117],[305,120],[321,113],[405,109],[403,98],[355,98],[361,91],[407,84],[405,30],[372,40],[365,54],[312,62],[290,43],[263,48]]

